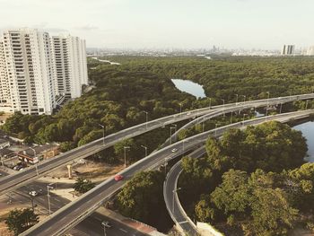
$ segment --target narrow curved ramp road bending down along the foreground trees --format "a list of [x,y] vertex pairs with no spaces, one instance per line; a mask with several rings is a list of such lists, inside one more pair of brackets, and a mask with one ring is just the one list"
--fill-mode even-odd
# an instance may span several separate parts
[[[206,153],[205,147],[196,149],[195,152],[188,154],[190,157],[200,157]],[[174,189],[177,189],[179,174],[182,171],[181,161],[172,166],[163,185],[163,197],[167,210],[181,232],[188,233],[189,236],[197,236],[196,225],[188,218],[183,207],[180,205],[179,197]]]

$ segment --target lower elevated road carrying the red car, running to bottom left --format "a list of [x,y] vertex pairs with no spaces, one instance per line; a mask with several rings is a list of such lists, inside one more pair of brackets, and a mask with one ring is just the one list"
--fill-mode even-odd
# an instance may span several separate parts
[[[182,153],[186,153],[199,144],[205,144],[205,140],[208,135],[222,135],[222,133],[231,127],[245,127],[248,125],[257,125],[265,122],[266,120],[278,120],[286,122],[292,118],[305,118],[314,113],[314,110],[297,111],[286,114],[280,114],[270,116],[266,118],[255,118],[246,120],[245,122],[235,123],[226,127],[219,127],[215,130],[207,131],[205,133],[188,137],[185,140],[179,141],[176,144],[171,144],[168,147],[151,153],[144,159],[135,162],[125,170],[122,170],[122,174],[125,179],[115,181],[113,178],[107,179],[100,183],[96,188],[92,188],[89,192],[85,193],[82,197],[79,197],[76,201],[66,205],[64,208],[58,210],[55,214],[52,214],[48,219],[36,224],[27,232],[22,235],[60,235],[69,229],[73,228],[77,223],[83,221],[88,215],[92,214],[100,205],[102,205],[109,197],[113,196],[123,185],[127,179],[131,179],[132,176],[141,170],[151,170],[160,166],[165,162],[165,158],[174,158]],[[176,152],[173,152],[173,149]]]

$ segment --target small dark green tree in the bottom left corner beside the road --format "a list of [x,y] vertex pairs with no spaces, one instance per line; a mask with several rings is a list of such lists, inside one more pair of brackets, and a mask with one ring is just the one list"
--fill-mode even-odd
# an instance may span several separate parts
[[18,235],[31,228],[31,226],[36,223],[39,223],[39,216],[35,214],[31,208],[22,210],[15,209],[9,213],[4,222],[10,232],[13,232],[14,235]]

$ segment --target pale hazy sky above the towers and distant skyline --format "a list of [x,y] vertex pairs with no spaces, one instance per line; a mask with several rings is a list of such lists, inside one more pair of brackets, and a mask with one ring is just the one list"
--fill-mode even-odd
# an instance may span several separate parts
[[314,45],[313,0],[0,0],[0,31],[70,33],[88,48]]

